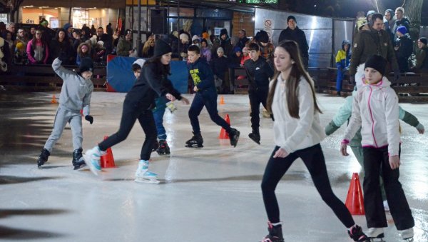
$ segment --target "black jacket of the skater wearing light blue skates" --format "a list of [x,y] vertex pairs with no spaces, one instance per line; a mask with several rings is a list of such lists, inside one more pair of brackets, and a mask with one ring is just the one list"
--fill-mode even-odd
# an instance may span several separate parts
[[123,105],[130,105],[136,109],[151,110],[156,107],[155,99],[166,94],[172,94],[175,99],[181,100],[181,94],[172,88],[168,76],[161,74],[155,62],[146,61],[141,75],[136,79],[131,91],[126,94]]

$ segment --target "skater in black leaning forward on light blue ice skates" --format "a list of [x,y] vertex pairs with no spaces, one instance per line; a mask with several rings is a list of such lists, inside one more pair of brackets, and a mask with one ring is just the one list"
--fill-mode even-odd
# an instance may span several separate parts
[[[168,89],[162,85],[168,81],[171,51],[171,47],[165,41],[159,39],[156,41],[153,58],[146,61],[143,69],[136,69],[134,72],[136,82],[131,91],[126,94],[125,101],[123,101],[119,130],[85,153],[85,161],[93,173],[98,174],[101,171],[100,156],[103,155],[107,148],[124,141],[138,119],[144,133],[146,133],[146,139],[141,148],[135,181],[159,182],[157,180],[158,175],[148,171],[148,160],[151,156],[153,144],[156,141],[156,125],[152,113],[152,109],[155,107],[155,98],[156,96],[165,96],[170,101],[182,99],[178,91]],[[142,74],[140,74],[140,71]],[[186,99],[183,99],[183,102],[186,103]]]

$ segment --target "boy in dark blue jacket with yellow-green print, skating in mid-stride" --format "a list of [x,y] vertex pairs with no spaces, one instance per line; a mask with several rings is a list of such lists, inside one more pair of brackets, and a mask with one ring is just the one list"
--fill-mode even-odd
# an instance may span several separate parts
[[193,137],[186,141],[186,147],[203,147],[203,138],[200,135],[200,126],[198,116],[203,107],[207,108],[210,118],[217,125],[222,126],[229,134],[230,145],[236,146],[240,132],[218,115],[217,111],[217,91],[215,91],[214,75],[208,63],[200,59],[200,49],[198,46],[189,46],[188,48],[188,70],[193,79],[193,91],[195,98],[189,109],[190,123],[193,128]]

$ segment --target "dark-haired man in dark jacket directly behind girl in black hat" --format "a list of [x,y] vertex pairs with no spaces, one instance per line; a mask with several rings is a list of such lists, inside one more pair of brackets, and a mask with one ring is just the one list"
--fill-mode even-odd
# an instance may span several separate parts
[[392,70],[394,70],[394,79],[398,79],[399,68],[397,59],[389,34],[382,29],[382,14],[373,14],[372,21],[373,26],[369,25],[369,30],[360,31],[355,37],[354,46],[352,47],[350,79],[355,81],[357,67],[360,64],[365,64],[365,61],[374,54],[387,59],[392,66]]

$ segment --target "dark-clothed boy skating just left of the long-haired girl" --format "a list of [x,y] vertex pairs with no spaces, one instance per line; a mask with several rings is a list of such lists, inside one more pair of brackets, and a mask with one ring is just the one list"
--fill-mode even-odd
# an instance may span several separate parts
[[273,76],[273,70],[264,58],[260,58],[258,44],[251,43],[248,46],[248,55],[250,59],[245,61],[244,67],[249,81],[248,97],[250,98],[251,128],[253,130],[248,137],[260,144],[260,104],[266,108],[269,79]]

